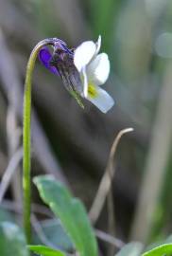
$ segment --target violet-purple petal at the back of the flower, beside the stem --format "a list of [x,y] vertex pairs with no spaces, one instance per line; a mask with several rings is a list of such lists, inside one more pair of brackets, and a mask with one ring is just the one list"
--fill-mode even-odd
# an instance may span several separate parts
[[52,60],[52,55],[47,47],[43,47],[39,52],[40,62],[53,74],[59,75],[59,72],[55,66],[50,64]]

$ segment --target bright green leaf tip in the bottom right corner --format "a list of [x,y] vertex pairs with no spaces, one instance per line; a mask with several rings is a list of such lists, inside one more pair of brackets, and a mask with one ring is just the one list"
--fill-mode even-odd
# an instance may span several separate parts
[[167,256],[172,254],[172,244],[164,244],[146,251],[142,256]]

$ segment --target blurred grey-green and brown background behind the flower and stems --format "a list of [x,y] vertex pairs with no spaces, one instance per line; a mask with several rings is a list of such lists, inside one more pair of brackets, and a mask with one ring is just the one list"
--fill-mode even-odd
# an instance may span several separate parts
[[[115,155],[114,214],[105,204],[95,227],[124,242],[159,241],[172,231],[170,0],[0,0],[0,175],[22,145],[26,63],[33,46],[58,37],[76,47],[98,35],[101,51],[111,60],[105,89],[115,105],[107,115],[88,101],[82,110],[60,78],[38,62],[32,92],[32,175],[54,174],[89,211],[114,138],[133,127]],[[2,206],[20,205],[21,172],[18,166]],[[39,202],[35,188],[33,198]]]

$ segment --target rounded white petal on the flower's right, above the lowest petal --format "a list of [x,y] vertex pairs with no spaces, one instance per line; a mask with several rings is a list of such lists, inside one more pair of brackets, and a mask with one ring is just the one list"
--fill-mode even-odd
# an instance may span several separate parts
[[106,82],[110,74],[110,61],[108,55],[106,53],[98,54],[95,59],[88,64],[86,72],[88,80],[96,85]]

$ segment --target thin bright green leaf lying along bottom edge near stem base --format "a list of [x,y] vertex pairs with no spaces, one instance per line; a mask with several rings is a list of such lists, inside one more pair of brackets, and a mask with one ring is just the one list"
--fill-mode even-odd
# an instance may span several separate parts
[[60,250],[55,250],[49,247],[43,246],[27,246],[31,251],[42,256],[65,256]]

